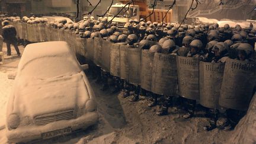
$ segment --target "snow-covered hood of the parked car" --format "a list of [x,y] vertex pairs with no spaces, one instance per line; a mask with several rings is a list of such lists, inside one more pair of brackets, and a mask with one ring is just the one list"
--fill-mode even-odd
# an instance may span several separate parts
[[20,79],[15,91],[14,111],[24,116],[82,108],[89,99],[81,73],[50,79]]

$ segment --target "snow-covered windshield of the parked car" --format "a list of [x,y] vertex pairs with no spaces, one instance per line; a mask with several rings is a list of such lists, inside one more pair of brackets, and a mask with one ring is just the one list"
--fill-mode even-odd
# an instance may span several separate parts
[[40,57],[27,62],[21,68],[21,76],[47,79],[79,71],[77,62],[69,57]]

